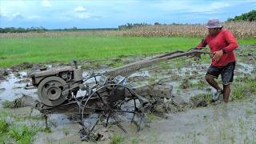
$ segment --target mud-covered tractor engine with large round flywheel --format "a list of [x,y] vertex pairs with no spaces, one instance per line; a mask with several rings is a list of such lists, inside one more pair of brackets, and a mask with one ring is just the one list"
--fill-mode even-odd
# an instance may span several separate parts
[[32,85],[38,87],[38,98],[46,106],[58,106],[74,98],[82,84],[82,69],[62,66],[41,69],[30,74]]

